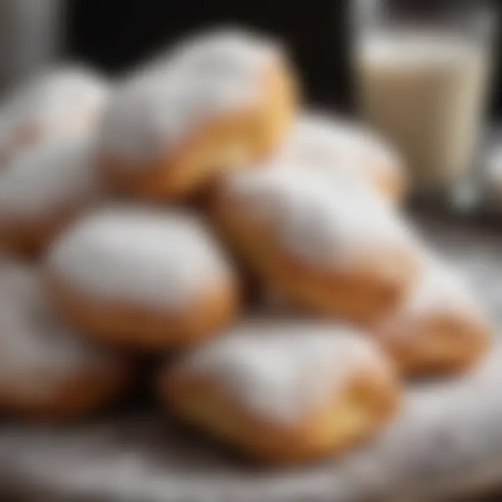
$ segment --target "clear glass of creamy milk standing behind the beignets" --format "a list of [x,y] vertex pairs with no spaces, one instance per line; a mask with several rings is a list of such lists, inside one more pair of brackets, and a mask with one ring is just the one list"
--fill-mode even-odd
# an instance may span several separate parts
[[360,116],[400,149],[416,192],[452,193],[477,161],[494,13],[482,0],[353,6]]

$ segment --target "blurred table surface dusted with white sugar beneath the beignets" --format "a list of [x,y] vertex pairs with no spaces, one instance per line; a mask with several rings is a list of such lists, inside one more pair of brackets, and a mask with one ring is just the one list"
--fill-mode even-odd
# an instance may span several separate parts
[[[418,227],[502,324],[502,228],[431,218]],[[473,374],[410,384],[402,413],[371,443],[294,470],[239,464],[145,409],[80,425],[5,423],[0,486],[52,502],[413,502],[478,493],[502,485],[500,381],[496,341]]]

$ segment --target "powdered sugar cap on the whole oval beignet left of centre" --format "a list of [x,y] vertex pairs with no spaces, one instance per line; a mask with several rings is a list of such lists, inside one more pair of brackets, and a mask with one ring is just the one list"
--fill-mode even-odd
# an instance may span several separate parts
[[179,310],[229,280],[203,222],[188,212],[115,206],[93,211],[54,243],[48,267],[96,301]]

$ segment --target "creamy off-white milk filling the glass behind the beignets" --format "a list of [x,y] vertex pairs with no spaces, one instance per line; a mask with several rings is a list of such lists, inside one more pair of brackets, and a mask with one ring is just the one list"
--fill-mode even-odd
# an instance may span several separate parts
[[473,166],[488,55],[481,43],[430,31],[358,41],[358,109],[404,154],[416,188],[448,188]]

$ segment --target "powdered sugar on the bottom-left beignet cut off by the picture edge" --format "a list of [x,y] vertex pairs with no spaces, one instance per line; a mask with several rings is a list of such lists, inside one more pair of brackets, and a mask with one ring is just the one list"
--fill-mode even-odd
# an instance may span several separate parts
[[80,371],[113,358],[79,340],[56,318],[33,269],[0,262],[0,386],[43,398]]

